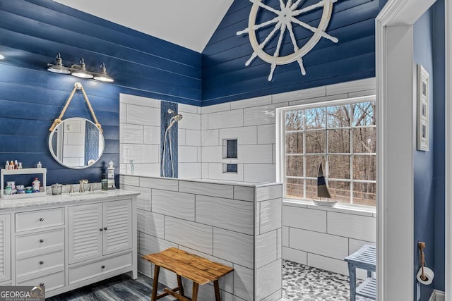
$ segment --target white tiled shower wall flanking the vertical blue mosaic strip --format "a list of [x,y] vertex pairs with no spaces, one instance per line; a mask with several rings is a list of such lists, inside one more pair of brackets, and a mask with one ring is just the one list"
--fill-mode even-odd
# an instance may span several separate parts
[[[161,101],[120,94],[119,102],[119,172],[160,176]],[[179,104],[178,113],[179,178],[201,178],[201,108]]]

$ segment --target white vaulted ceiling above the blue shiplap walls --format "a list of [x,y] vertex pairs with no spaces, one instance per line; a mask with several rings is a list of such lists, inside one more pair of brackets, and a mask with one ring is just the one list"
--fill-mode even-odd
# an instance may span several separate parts
[[202,52],[233,0],[54,0]]

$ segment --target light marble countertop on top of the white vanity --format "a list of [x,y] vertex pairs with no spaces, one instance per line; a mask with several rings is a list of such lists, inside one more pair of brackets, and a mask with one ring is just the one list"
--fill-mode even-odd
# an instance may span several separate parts
[[61,195],[47,194],[40,197],[28,197],[19,199],[0,199],[0,211],[8,209],[30,209],[30,207],[40,207],[57,204],[70,204],[72,202],[83,202],[87,200],[105,200],[112,197],[127,197],[139,195],[140,192],[130,190],[114,189],[114,190],[94,190],[87,192],[63,193]]

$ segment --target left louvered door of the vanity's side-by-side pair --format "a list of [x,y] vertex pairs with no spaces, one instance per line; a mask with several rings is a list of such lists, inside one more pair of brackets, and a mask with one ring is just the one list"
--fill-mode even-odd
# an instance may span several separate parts
[[69,207],[69,264],[102,256],[102,203]]

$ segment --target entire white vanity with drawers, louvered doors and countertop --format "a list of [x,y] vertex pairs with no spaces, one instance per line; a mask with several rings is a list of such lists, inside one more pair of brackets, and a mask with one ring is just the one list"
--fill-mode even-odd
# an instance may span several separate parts
[[42,285],[45,296],[137,274],[136,192],[0,201],[0,285]]

